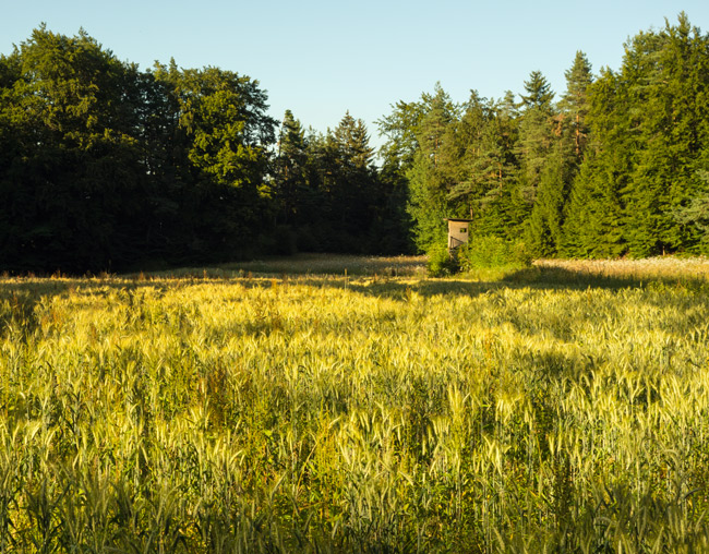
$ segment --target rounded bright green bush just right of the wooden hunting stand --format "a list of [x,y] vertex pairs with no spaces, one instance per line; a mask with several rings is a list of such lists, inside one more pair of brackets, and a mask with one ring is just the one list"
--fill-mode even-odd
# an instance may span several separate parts
[[458,251],[458,262],[466,272],[480,267],[528,267],[531,261],[524,242],[492,236],[470,237]]

